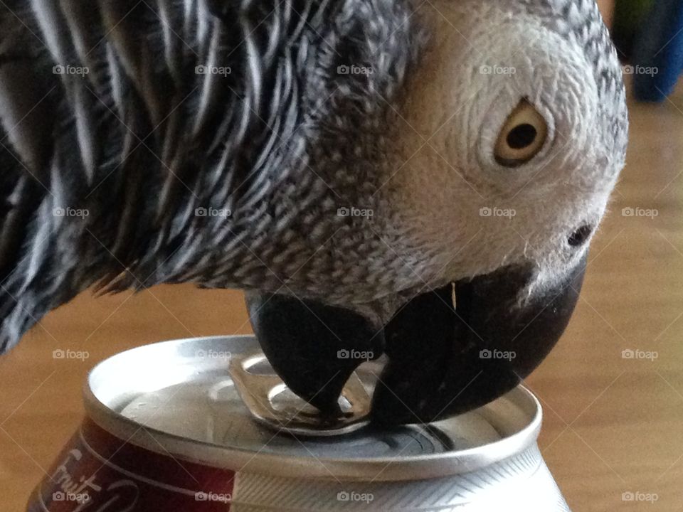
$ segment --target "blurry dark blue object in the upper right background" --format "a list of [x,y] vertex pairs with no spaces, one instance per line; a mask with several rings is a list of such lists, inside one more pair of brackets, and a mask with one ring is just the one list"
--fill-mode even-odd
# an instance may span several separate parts
[[637,100],[662,102],[671,94],[683,70],[683,1],[655,0],[633,48],[632,65]]

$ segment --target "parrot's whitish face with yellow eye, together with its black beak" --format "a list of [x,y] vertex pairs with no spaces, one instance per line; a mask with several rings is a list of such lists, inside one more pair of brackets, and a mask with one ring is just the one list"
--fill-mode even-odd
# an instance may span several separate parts
[[355,311],[248,301],[277,372],[321,410],[337,410],[363,362],[339,354],[386,354],[372,414],[391,425],[484,405],[548,355],[578,300],[628,134],[621,67],[595,2],[441,0],[416,17],[438,36],[394,111],[380,207],[391,219],[383,233],[396,233],[383,239],[384,261],[409,267],[413,287]]

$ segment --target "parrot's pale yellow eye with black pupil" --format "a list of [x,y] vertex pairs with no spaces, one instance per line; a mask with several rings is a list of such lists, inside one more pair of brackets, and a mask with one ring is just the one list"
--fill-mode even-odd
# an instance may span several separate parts
[[496,142],[496,161],[505,167],[519,167],[539,154],[548,137],[548,124],[538,110],[521,100],[509,115]]

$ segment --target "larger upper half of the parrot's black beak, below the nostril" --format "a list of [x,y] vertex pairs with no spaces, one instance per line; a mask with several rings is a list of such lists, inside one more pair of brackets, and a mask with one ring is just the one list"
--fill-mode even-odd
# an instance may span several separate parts
[[563,334],[585,271],[586,256],[556,289],[521,305],[519,293],[532,277],[521,267],[415,297],[385,326],[389,363],[373,395],[372,420],[432,422],[515,388]]

